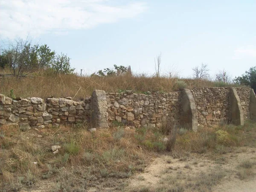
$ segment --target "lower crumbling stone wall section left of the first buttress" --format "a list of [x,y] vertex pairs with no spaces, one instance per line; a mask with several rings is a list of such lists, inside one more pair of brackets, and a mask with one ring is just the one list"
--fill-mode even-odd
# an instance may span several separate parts
[[27,123],[30,126],[58,126],[74,122],[90,122],[90,100],[76,102],[71,98],[32,97],[13,100],[0,94],[0,124]]

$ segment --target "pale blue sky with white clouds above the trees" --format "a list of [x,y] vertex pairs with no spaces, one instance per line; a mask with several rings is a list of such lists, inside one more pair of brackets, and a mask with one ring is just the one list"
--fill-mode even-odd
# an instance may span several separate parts
[[256,0],[0,0],[0,39],[32,38],[84,75],[131,66],[154,74],[234,78],[256,66]]

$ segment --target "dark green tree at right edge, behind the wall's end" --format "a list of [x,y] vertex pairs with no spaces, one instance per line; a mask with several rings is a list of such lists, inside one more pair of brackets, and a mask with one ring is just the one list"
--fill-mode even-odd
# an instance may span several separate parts
[[251,67],[249,71],[245,71],[245,74],[242,76],[235,77],[233,81],[236,84],[250,86],[254,90],[254,93],[256,93],[256,67]]

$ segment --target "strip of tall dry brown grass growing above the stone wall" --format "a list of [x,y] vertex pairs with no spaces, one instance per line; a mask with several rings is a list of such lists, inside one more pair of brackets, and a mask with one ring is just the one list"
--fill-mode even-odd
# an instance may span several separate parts
[[[0,72],[1,73],[1,72]],[[3,74],[3,73],[2,73]],[[201,79],[178,79],[166,77],[147,76],[138,74],[134,76],[84,76],[76,75],[49,75],[36,74],[33,77],[23,77],[16,79],[12,76],[0,76],[0,93],[8,95],[10,90],[14,91],[15,96],[20,97],[67,97],[75,96],[84,98],[91,95],[93,90],[105,90],[106,92],[118,92],[119,90],[133,90],[143,93],[146,91],[171,92],[179,88],[193,87],[216,87],[220,86],[216,82]],[[229,86],[221,84],[221,86]]]

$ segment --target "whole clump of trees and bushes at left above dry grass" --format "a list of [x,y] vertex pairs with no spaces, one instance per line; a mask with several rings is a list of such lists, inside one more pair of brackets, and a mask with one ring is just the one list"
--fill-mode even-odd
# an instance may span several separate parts
[[32,45],[22,39],[17,39],[14,44],[10,43],[9,47],[0,47],[0,67],[9,67],[16,77],[48,68],[54,73],[65,74],[75,70],[70,67],[67,55],[56,55],[46,44]]

